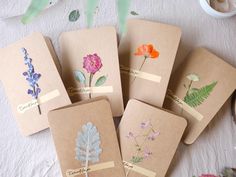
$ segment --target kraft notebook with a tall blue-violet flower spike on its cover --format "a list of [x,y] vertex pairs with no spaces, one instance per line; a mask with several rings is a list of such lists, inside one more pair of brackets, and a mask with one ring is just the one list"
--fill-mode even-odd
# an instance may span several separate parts
[[40,33],[0,50],[0,80],[23,135],[48,128],[48,111],[71,103],[52,56]]

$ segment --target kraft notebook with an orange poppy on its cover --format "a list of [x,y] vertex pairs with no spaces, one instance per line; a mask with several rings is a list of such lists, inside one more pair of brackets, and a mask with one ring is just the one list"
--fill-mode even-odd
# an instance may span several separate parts
[[162,107],[181,30],[144,20],[128,20],[119,59],[124,100],[135,98]]

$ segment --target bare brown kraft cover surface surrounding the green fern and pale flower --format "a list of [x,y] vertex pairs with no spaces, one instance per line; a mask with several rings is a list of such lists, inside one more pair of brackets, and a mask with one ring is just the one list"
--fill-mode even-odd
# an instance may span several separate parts
[[200,105],[194,107],[194,110],[202,115],[200,119],[192,116],[169,99],[167,93],[164,107],[185,117],[188,121],[184,135],[186,144],[192,144],[198,138],[236,87],[235,68],[204,48],[195,49],[180,65],[179,69],[173,73],[168,89],[182,100],[186,95],[184,84],[188,87],[190,83],[187,78],[189,74],[199,76],[199,81],[193,82],[193,88],[199,89],[213,82],[217,83],[209,96]]

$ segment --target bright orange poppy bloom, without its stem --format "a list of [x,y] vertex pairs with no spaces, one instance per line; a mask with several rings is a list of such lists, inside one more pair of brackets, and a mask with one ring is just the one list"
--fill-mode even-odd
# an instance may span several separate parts
[[156,59],[159,56],[159,52],[154,49],[152,44],[143,44],[142,46],[137,48],[137,51],[134,53],[134,55]]

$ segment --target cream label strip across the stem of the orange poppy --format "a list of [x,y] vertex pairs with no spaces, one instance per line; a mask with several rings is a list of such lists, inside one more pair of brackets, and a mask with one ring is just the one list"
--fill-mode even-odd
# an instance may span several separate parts
[[142,72],[136,69],[125,67],[123,65],[120,65],[120,70],[121,70],[121,73],[123,74],[129,74],[131,76],[139,77],[141,79],[146,79],[152,82],[157,82],[157,83],[161,82],[161,76],[158,76],[158,75]]

